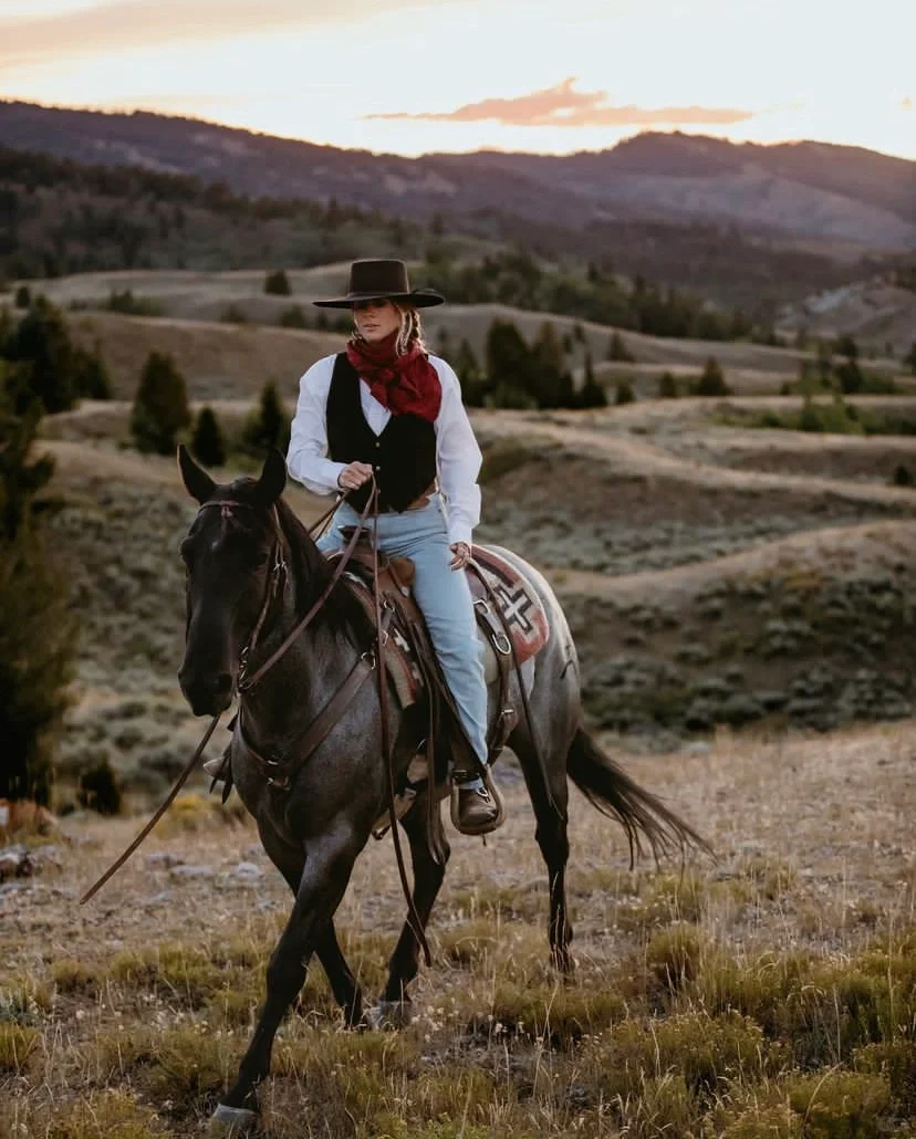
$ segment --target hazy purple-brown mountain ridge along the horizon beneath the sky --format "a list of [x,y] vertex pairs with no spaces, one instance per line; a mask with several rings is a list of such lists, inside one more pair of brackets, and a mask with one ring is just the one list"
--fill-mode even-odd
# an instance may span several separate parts
[[572,155],[408,158],[189,116],[0,101],[0,145],[195,174],[255,197],[335,198],[416,218],[509,212],[580,229],[608,220],[718,222],[775,243],[803,235],[861,251],[916,249],[916,162],[825,142],[656,131]]

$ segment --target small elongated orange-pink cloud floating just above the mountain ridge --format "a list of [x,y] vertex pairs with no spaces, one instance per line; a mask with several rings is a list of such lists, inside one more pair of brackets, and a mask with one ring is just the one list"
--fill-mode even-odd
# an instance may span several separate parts
[[443,123],[497,122],[506,126],[648,126],[743,123],[751,110],[733,107],[615,107],[606,91],[574,91],[575,79],[514,99],[483,99],[456,110],[393,112],[366,118],[414,120]]

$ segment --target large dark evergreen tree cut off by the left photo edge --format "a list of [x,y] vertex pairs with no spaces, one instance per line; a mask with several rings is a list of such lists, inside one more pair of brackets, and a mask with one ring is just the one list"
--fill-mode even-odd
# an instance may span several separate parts
[[0,797],[47,804],[75,630],[38,526],[35,495],[54,470],[31,459],[41,410],[26,369],[0,360]]

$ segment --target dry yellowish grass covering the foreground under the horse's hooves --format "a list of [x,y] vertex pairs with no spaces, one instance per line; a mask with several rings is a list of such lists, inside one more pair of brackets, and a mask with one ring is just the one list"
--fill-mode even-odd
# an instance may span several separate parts
[[[547,965],[543,869],[508,780],[485,860],[453,843],[415,1023],[342,1032],[316,969],[262,1088],[265,1134],[903,1139],[914,745],[903,723],[639,761],[715,846],[684,872],[628,870],[621,833],[575,796],[571,984]],[[288,891],[253,829],[214,816],[154,835],[79,909],[136,825],[65,820],[56,875],[0,899],[5,1139],[195,1136],[232,1076]],[[263,876],[239,879],[240,860]],[[373,843],[340,913],[368,994],[402,911],[390,845]]]

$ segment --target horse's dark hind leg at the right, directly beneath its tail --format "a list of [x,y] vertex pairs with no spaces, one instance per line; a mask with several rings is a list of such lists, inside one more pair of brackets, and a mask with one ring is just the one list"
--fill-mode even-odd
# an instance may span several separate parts
[[566,830],[569,788],[565,765],[555,772],[550,768],[549,760],[547,762],[547,775],[554,800],[551,803],[538,763],[534,744],[527,730],[522,726],[516,728],[509,740],[509,746],[522,765],[537,820],[534,837],[540,846],[543,861],[547,863],[550,886],[550,925],[548,927],[550,957],[561,973],[570,974],[573,968],[572,954],[570,953],[573,931],[566,910],[566,862],[570,858],[570,839]]

